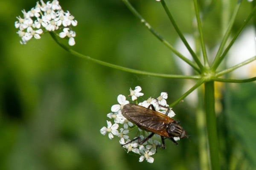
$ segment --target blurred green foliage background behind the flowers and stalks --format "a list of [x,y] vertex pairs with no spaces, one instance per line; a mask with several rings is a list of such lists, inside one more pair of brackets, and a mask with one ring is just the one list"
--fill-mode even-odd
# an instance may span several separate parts
[[[177,34],[155,0],[132,0],[137,10],[172,44]],[[177,24],[193,33],[189,0],[166,0]],[[204,2],[204,1],[203,1]],[[169,94],[171,103],[183,94],[186,81],[148,77],[114,70],[71,56],[44,34],[19,43],[14,22],[34,0],[0,0],[0,170],[130,170],[200,168],[197,105],[186,99],[174,109],[190,136],[178,146],[166,140],[154,163],[139,163],[118,139],[102,136],[106,114],[119,94],[140,85],[143,99]],[[235,4],[235,2],[234,2]],[[234,6],[231,4],[231,8]],[[73,49],[113,64],[166,74],[182,74],[175,57],[131,14],[121,0],[60,0],[78,20]],[[202,3],[201,7],[208,7]],[[234,30],[250,12],[243,2]],[[205,40],[213,49],[220,40],[220,4],[207,8]],[[214,33],[214,34],[212,34]],[[64,41],[67,44],[67,41]],[[188,88],[186,88],[188,89]],[[227,91],[228,90],[228,91]],[[218,113],[220,158],[224,169],[256,167],[256,88],[250,82],[220,89]],[[201,105],[201,104],[200,104]]]

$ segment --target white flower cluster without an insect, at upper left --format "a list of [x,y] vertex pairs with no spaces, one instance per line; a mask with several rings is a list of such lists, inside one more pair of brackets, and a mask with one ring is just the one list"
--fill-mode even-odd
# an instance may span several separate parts
[[70,30],[71,26],[77,25],[73,15],[69,11],[64,12],[58,0],[47,3],[40,0],[40,2],[41,4],[37,2],[30,11],[22,10],[24,18],[17,17],[18,21],[15,22],[15,27],[19,28],[17,34],[21,37],[20,43],[26,44],[32,37],[40,39],[40,35],[47,31],[63,30],[59,33],[59,37],[68,37],[68,44],[75,45],[76,32]]

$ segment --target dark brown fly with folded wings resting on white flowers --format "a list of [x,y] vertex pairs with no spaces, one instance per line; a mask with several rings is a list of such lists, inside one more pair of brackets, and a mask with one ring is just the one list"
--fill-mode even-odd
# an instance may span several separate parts
[[[157,112],[153,105],[149,105],[148,108],[144,108],[140,105],[127,104],[123,106],[121,111],[122,115],[126,119],[140,127],[140,129],[152,132],[145,139],[139,141],[139,144],[143,144],[154,134],[158,134],[161,136],[162,140],[161,148],[165,149],[165,139],[170,139],[177,145],[178,143],[175,141],[174,137],[180,137],[180,139],[188,138],[186,131],[183,130],[183,128],[179,125],[179,122],[167,116],[170,108],[168,108],[166,114],[163,114]],[[131,143],[137,139],[140,140],[140,137],[137,137],[128,143]]]

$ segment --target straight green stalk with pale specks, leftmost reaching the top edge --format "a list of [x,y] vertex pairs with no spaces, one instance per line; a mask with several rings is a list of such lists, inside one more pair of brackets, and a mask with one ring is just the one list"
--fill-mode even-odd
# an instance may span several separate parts
[[194,62],[190,61],[189,59],[187,59],[186,57],[184,57],[182,54],[180,54],[180,52],[178,52],[168,41],[166,41],[162,36],[160,36],[160,34],[158,34],[154,28],[152,28],[150,26],[150,24],[138,13],[138,11],[131,5],[131,3],[129,3],[128,0],[122,0],[125,5],[128,7],[128,9],[135,15],[135,17],[137,17],[138,19],[140,19],[141,23],[144,24],[144,26],[146,28],[148,28],[148,30],[155,36],[157,37],[158,40],[160,40],[161,42],[163,42],[164,45],[166,45],[174,54],[177,55],[177,57],[180,57],[180,59],[182,59],[184,62],[188,63],[192,68],[194,68],[198,73],[201,73],[200,69],[198,68],[197,65],[195,65]]

